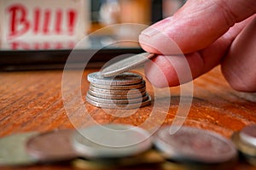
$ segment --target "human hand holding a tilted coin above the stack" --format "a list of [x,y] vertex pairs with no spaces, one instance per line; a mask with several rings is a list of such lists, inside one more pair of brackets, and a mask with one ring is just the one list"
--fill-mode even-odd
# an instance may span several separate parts
[[[255,0],[189,0],[172,17],[149,26],[139,36],[144,50],[159,54],[145,65],[148,80],[160,88],[166,87],[166,80],[167,86],[177,86],[173,65],[182,69],[189,64],[195,79],[220,64],[232,88],[256,92],[255,13]],[[161,55],[172,58],[178,54],[172,41],[185,54],[186,63]]]

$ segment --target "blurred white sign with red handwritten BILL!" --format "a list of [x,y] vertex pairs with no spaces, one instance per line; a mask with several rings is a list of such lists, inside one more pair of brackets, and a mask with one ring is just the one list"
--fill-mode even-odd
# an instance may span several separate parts
[[90,27],[90,2],[0,0],[0,20],[5,48],[73,48]]

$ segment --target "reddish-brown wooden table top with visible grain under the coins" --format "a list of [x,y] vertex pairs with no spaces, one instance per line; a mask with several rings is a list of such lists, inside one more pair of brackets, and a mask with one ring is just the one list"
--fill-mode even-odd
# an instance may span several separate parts
[[[229,138],[242,127],[256,122],[256,94],[236,92],[222,77],[219,67],[194,81],[194,95],[189,115],[184,124],[200,127],[223,134]],[[96,70],[85,70],[81,87],[74,86],[81,71],[67,71],[69,79],[65,82],[66,99],[72,94],[81,92],[83,98],[89,88],[86,75]],[[154,105],[135,111],[131,116],[116,116],[108,111],[89,104],[86,114],[79,112],[79,105],[73,103],[73,112],[64,108],[61,94],[62,71],[12,71],[0,72],[0,136],[30,131],[46,132],[53,129],[86,127],[92,122],[120,122],[140,126],[145,122]],[[148,82],[147,82],[148,83]],[[153,88],[148,83],[148,93],[154,96]],[[166,112],[157,108],[159,114],[166,114],[160,122],[172,124],[179,105],[180,88],[170,88],[171,106]],[[162,95],[163,105],[165,94]],[[161,97],[160,97],[161,98]],[[190,97],[188,97],[190,98]],[[68,112],[68,113],[67,113]],[[160,120],[161,121],[161,120]],[[157,118],[154,122],[158,122]],[[150,123],[145,128],[150,128]],[[1,167],[2,169],[3,167]],[[8,167],[4,167],[8,168]],[[42,165],[32,167],[9,167],[8,169],[76,169],[69,165]],[[256,169],[247,163],[240,162],[236,169]]]

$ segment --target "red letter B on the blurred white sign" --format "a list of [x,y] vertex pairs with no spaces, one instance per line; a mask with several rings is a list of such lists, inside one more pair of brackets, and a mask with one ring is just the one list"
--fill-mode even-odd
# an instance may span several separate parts
[[29,22],[26,20],[26,8],[20,4],[15,4],[8,9],[10,13],[9,37],[17,37],[24,34],[29,29]]

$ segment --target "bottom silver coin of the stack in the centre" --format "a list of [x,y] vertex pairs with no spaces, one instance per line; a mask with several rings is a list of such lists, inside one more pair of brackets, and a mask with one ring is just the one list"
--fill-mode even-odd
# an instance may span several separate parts
[[148,99],[143,102],[132,103],[132,104],[128,104],[128,105],[122,105],[122,104],[113,105],[113,104],[108,104],[108,103],[102,103],[102,102],[94,101],[90,98],[86,98],[86,101],[90,105],[94,105],[96,107],[108,108],[108,109],[137,109],[137,108],[151,104],[150,96],[148,96]]

